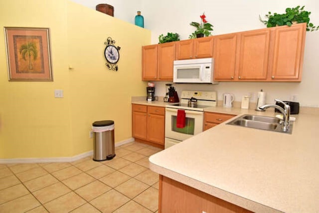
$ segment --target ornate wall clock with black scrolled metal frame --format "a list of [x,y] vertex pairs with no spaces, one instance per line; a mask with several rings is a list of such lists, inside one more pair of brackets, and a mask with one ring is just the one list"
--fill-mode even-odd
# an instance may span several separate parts
[[105,41],[104,44],[106,45],[104,56],[107,61],[105,65],[109,68],[109,70],[118,71],[119,67],[117,65],[117,62],[120,59],[119,50],[121,49],[121,47],[115,46],[115,40],[113,40],[111,37],[108,37],[107,41]]

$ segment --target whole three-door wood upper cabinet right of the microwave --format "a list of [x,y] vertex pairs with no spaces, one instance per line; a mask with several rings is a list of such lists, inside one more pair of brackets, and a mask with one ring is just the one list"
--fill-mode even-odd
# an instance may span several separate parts
[[214,80],[301,81],[306,23],[214,36]]

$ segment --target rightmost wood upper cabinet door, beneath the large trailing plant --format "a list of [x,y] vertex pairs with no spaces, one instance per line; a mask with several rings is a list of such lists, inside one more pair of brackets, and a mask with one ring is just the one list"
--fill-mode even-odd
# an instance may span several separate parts
[[276,27],[272,81],[301,81],[306,23]]

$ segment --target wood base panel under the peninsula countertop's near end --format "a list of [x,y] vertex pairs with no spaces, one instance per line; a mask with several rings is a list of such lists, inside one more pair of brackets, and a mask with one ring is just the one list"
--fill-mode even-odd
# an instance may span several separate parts
[[252,213],[160,175],[159,213]]

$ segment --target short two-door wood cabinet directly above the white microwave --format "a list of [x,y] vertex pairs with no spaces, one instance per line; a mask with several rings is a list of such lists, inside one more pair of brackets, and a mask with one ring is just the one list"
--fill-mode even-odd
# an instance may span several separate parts
[[213,54],[213,36],[176,42],[176,60],[209,58]]

